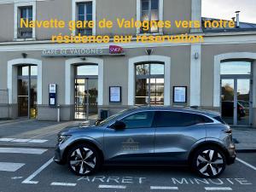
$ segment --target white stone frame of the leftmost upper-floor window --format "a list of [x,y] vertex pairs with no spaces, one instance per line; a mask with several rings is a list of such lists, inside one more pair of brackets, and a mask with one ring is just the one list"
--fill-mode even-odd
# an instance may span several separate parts
[[20,7],[30,7],[32,6],[32,20],[36,20],[36,1],[29,0],[27,2],[15,3],[15,41],[28,41],[28,40],[36,40],[36,28],[32,28],[32,38],[18,38],[18,24],[20,20]]

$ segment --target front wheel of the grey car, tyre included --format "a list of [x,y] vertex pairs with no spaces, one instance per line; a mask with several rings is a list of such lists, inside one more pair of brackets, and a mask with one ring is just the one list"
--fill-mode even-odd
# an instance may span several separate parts
[[90,175],[101,165],[100,154],[96,148],[88,144],[79,144],[69,151],[67,163],[69,169],[76,175]]

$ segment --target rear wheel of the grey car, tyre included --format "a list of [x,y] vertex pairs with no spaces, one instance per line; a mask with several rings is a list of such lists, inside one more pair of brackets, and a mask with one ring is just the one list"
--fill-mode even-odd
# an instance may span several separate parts
[[222,150],[215,147],[200,148],[195,152],[192,162],[193,169],[201,177],[218,177],[224,172],[226,158]]

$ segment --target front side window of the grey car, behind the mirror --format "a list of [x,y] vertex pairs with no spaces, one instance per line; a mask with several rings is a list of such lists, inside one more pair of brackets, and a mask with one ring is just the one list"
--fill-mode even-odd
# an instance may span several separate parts
[[147,128],[152,126],[154,119],[154,112],[139,112],[131,114],[124,119],[121,119],[125,123],[125,129]]

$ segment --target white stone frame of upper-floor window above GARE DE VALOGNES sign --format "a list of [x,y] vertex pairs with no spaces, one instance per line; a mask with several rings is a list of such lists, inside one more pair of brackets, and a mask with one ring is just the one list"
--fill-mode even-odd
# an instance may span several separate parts
[[[73,0],[72,1],[72,20],[77,20],[77,3],[92,3],[92,21],[95,23],[92,28],[92,35],[96,35],[96,0]],[[73,30],[72,35],[76,35],[76,29]]]

